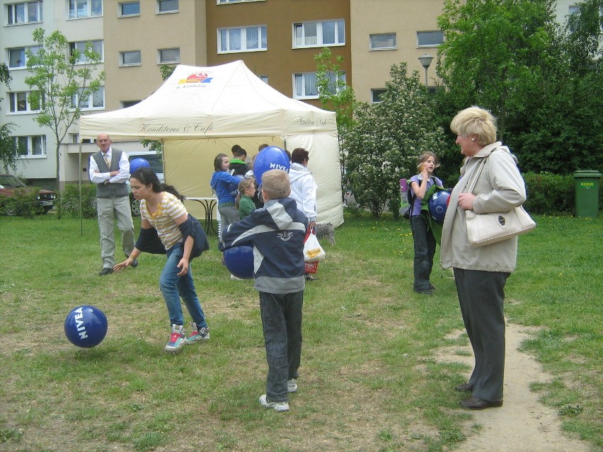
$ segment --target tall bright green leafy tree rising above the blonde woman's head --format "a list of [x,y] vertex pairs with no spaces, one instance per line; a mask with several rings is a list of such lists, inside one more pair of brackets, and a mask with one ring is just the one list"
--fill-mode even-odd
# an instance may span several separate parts
[[498,117],[500,138],[538,108],[544,74],[557,62],[554,0],[445,0],[437,73],[458,110]]

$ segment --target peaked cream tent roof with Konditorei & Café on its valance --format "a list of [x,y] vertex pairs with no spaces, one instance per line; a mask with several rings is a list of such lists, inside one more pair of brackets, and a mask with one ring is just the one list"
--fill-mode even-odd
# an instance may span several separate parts
[[114,140],[258,137],[336,133],[335,113],[287,98],[242,61],[176,66],[148,98],[122,110],[85,115],[80,138]]

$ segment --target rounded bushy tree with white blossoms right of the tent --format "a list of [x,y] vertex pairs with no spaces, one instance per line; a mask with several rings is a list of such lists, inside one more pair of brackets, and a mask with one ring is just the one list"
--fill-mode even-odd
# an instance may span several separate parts
[[346,137],[346,182],[357,203],[375,217],[386,206],[398,216],[400,178],[416,174],[421,152],[442,156],[446,150],[432,96],[418,71],[410,77],[406,73],[406,63],[391,66],[381,102],[358,103],[355,124]]

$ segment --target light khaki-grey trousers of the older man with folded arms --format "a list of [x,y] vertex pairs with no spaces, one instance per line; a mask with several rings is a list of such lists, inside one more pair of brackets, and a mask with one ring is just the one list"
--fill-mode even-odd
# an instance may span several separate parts
[[[98,229],[101,231],[101,259],[103,268],[115,266],[115,233],[113,225],[117,219],[117,228],[122,233],[122,250],[130,256],[134,249],[134,222],[130,209],[130,197],[96,198]],[[120,262],[122,259],[120,258]]]

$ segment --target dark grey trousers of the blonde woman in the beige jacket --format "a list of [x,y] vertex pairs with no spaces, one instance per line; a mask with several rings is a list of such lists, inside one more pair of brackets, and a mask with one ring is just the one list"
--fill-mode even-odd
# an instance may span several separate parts
[[473,395],[495,402],[503,400],[505,378],[505,283],[509,273],[454,268],[461,315],[476,366],[469,383]]

